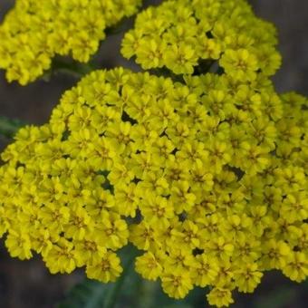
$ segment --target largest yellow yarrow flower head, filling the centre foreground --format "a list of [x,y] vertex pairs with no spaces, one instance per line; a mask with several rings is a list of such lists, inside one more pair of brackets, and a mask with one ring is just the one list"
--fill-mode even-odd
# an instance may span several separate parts
[[303,281],[307,101],[263,83],[91,72],[2,155],[10,254],[108,282],[129,240],[144,278],[174,298],[210,286],[217,306],[271,269]]

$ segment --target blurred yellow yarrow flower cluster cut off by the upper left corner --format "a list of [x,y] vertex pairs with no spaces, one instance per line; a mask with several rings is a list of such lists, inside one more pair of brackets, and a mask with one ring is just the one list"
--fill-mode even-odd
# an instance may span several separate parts
[[9,82],[33,82],[54,55],[86,63],[106,27],[135,14],[141,0],[17,0],[0,26],[0,68]]

